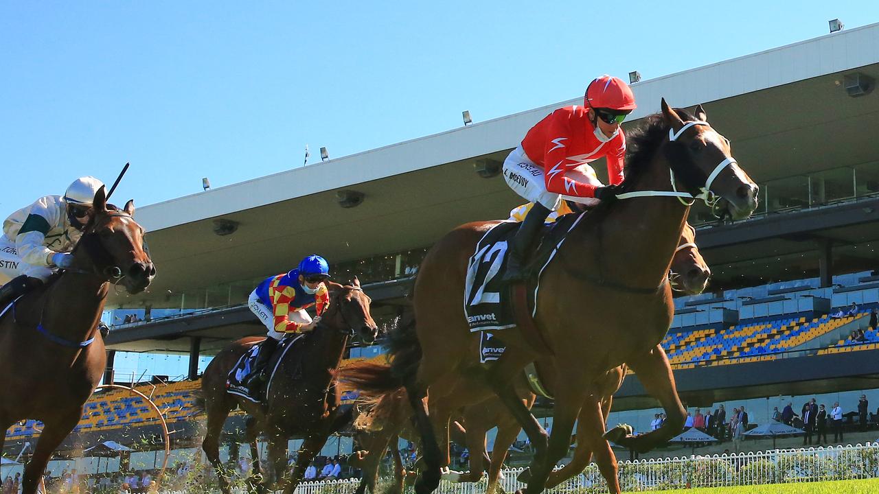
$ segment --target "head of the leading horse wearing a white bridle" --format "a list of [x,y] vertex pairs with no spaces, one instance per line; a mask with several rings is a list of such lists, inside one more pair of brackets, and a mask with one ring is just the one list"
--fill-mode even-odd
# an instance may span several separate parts
[[695,120],[683,120],[662,100],[669,130],[668,152],[672,185],[676,176],[686,192],[705,200],[718,217],[741,220],[757,209],[759,187],[732,157],[730,140],[708,124],[708,114],[696,106]]

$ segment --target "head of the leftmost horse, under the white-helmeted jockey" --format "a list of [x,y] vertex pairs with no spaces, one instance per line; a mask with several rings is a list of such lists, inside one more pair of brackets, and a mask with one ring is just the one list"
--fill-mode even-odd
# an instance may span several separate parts
[[107,204],[104,187],[95,193],[89,222],[74,249],[70,271],[92,273],[121,283],[129,294],[142,292],[156,276],[156,266],[143,243],[143,228],[134,222],[134,200],[119,209]]

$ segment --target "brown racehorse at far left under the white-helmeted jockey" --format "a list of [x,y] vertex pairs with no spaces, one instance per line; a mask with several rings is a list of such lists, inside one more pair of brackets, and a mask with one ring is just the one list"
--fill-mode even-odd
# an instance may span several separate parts
[[[14,377],[0,387],[0,430],[24,418],[44,425],[25,467],[23,494],[37,491],[47,461],[79,422],[104,374],[97,327],[110,283],[136,294],[156,274],[133,214],[133,201],[119,210],[106,203],[102,187],[71,268],[25,294],[0,320],[0,375]],[[0,436],[0,450],[3,443]]]

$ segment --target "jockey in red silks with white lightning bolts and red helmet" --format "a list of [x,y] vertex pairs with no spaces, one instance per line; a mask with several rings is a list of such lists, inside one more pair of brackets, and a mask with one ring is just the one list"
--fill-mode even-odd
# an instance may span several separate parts
[[[504,280],[524,280],[523,262],[534,236],[560,198],[584,205],[616,199],[622,182],[626,136],[620,124],[636,108],[628,84],[600,76],[586,87],[584,105],[559,108],[537,123],[504,161],[507,185],[534,202],[512,239]],[[610,185],[602,185],[587,163],[604,156]]]

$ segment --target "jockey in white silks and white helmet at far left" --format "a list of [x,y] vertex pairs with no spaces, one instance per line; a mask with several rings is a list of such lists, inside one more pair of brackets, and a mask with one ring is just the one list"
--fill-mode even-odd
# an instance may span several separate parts
[[70,267],[70,251],[89,222],[98,178],[77,178],[63,196],[47,195],[10,214],[0,236],[0,306],[39,287],[57,268]]

